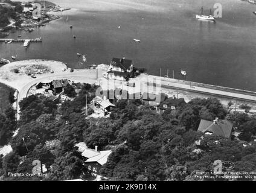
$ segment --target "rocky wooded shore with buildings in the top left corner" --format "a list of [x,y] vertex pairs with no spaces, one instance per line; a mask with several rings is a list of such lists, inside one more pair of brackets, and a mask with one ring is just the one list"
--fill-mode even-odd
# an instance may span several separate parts
[[[42,6],[40,16],[33,16],[36,4]],[[0,36],[8,36],[7,30],[33,31],[33,28],[43,26],[46,22],[59,19],[59,16],[49,14],[51,11],[66,11],[49,1],[36,0],[27,3],[0,0]]]

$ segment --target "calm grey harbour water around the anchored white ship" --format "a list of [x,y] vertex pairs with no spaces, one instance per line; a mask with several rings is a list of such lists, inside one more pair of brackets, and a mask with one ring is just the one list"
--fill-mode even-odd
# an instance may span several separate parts
[[[28,49],[22,43],[3,43],[0,57],[60,60],[71,68],[126,57],[148,74],[159,75],[162,68],[162,75],[168,69],[170,76],[174,71],[174,78],[182,79],[183,69],[190,81],[256,91],[256,5],[223,0],[223,18],[207,22],[195,18],[199,0],[51,1],[72,10],[54,13],[62,18],[46,27],[21,32],[22,38],[42,37],[42,43]],[[203,1],[205,13],[216,2]],[[77,52],[86,54],[88,63],[80,65]]]

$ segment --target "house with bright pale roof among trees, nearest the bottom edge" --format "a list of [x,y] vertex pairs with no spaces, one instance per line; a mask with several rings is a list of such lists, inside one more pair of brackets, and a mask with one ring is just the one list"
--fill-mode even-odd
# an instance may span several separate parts
[[75,144],[75,147],[82,153],[84,158],[83,165],[93,174],[99,174],[101,166],[107,163],[107,158],[112,153],[111,150],[98,151],[97,146],[95,146],[95,149],[88,148],[85,142]]

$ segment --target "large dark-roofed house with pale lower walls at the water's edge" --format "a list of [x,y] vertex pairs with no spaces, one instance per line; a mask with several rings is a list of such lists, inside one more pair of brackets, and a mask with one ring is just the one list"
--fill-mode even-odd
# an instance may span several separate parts
[[127,81],[134,76],[135,69],[133,66],[132,60],[113,58],[104,77]]

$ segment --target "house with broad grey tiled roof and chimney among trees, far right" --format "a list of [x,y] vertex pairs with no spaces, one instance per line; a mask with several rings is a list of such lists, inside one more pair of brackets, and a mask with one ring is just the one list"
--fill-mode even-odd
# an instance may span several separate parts
[[206,121],[201,119],[198,130],[205,134],[216,134],[224,138],[231,137],[233,124],[226,120],[219,120],[218,118],[213,121]]

